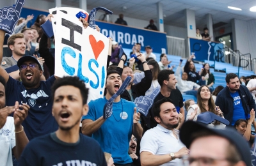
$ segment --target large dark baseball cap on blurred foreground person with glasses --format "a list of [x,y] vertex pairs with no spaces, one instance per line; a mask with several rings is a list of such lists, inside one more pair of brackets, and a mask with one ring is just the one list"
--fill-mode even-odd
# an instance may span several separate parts
[[202,131],[209,131],[227,139],[236,146],[237,152],[241,155],[244,163],[246,163],[246,165],[252,164],[249,144],[234,128],[228,126],[223,129],[209,128],[205,124],[196,123],[195,121],[186,121],[180,128],[180,140],[189,149],[194,140],[192,135]]

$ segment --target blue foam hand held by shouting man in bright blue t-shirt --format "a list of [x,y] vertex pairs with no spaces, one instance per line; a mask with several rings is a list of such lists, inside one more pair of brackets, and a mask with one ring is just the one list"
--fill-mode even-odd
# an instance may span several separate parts
[[129,85],[131,79],[132,79],[132,77],[130,77],[130,76],[126,77],[126,79],[124,80],[122,86],[118,89],[118,91],[105,103],[104,108],[103,108],[103,118],[104,119],[108,119],[109,117],[111,117],[112,112],[113,112],[113,103],[114,103],[115,98],[117,96],[119,96],[120,94],[124,93],[126,87]]

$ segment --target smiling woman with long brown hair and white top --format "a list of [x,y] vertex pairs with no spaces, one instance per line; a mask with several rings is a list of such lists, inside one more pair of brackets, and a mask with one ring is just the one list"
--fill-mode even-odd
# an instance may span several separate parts
[[[223,117],[223,112],[221,112],[220,108],[215,105],[212,99],[209,87],[201,86],[197,91],[197,104],[189,106],[186,120],[196,121],[198,114],[207,111]],[[220,124],[220,122],[216,121],[213,124]],[[221,125],[225,126],[225,124]]]

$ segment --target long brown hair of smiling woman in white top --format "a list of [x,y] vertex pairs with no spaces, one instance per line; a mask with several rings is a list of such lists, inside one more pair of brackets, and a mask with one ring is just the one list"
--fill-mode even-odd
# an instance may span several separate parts
[[[199,87],[199,89],[197,91],[197,95],[196,95],[197,96],[197,105],[198,105],[199,109],[201,110],[201,113],[207,112],[207,109],[205,109],[205,107],[204,107],[204,103],[203,103],[203,100],[202,100],[201,94],[200,94],[203,87],[207,87],[209,89],[208,86],[205,86],[205,85],[201,86],[201,87]],[[210,89],[209,89],[209,91],[210,91]],[[216,107],[215,107],[214,100],[212,99],[212,95],[210,96],[210,98],[208,100],[208,105],[209,105],[209,110],[208,111],[216,114]],[[214,124],[220,124],[220,122],[215,121]]]

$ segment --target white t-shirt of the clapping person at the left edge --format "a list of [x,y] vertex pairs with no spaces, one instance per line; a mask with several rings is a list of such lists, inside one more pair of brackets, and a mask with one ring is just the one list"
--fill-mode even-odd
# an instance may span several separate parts
[[12,148],[15,147],[13,117],[8,116],[3,128],[0,129],[0,166],[12,164]]

